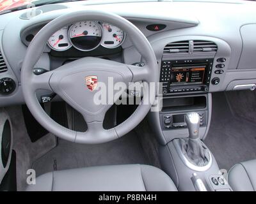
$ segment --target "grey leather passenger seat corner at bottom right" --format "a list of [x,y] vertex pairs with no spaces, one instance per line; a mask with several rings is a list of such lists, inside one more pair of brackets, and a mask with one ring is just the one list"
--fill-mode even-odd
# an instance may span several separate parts
[[256,191],[256,159],[235,164],[228,173],[234,191]]

